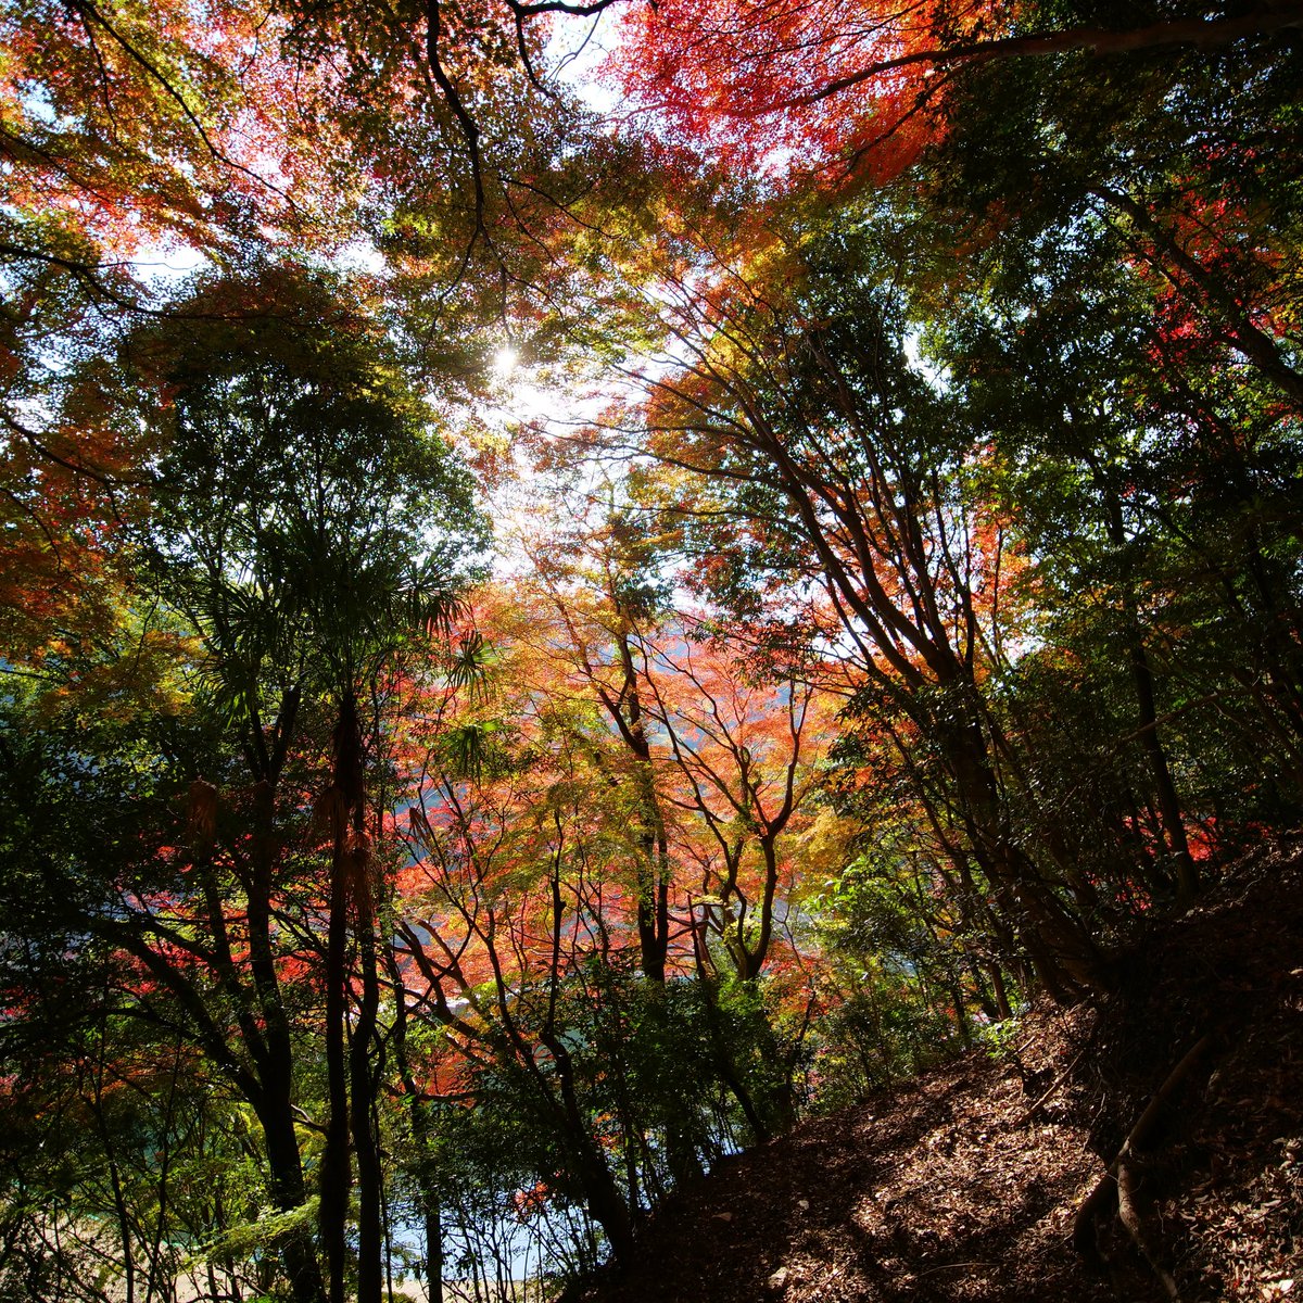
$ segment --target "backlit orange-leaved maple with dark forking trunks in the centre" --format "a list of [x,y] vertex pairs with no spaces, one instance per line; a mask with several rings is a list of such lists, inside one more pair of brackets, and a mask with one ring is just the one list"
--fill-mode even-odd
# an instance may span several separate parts
[[[701,612],[671,610],[655,541],[633,528],[632,511],[609,509],[601,525],[563,533],[533,560],[563,631],[551,661],[614,727],[610,741],[590,734],[589,745],[610,794],[632,804],[642,971],[663,982],[691,962],[718,1016],[721,994],[737,1010],[758,999],[766,968],[791,967],[799,949],[794,857],[827,743],[827,701],[799,671],[757,672]],[[761,1038],[770,1012],[754,1024]],[[770,1114],[790,1114],[790,1080],[779,1071],[761,1085],[769,1102],[757,1102],[718,1022],[711,1035],[748,1124],[770,1134],[782,1124]],[[769,1057],[782,1065],[777,1038]]]

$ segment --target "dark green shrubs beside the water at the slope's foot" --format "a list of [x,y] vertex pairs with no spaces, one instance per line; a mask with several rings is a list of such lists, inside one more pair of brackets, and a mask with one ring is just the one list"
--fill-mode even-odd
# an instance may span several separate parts
[[[536,1027],[547,1007],[555,1022]],[[605,1251],[599,1181],[638,1221],[757,1124],[769,1135],[791,1119],[794,1046],[756,982],[661,985],[594,962],[562,980],[555,1005],[550,985],[521,990],[512,1018],[533,1049],[503,1042],[468,1081],[474,1108],[434,1114],[426,1179],[455,1273],[491,1278],[530,1246],[541,1276],[573,1280]]]

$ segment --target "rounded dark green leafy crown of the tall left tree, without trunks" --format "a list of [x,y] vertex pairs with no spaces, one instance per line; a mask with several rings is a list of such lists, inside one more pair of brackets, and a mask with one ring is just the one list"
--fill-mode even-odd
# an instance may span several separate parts
[[485,546],[469,478],[330,287],[268,272],[185,309],[202,318],[212,300],[258,315],[125,345],[164,397],[147,417],[165,452],[146,554],[237,701],[268,680],[352,688],[404,636],[447,627]]

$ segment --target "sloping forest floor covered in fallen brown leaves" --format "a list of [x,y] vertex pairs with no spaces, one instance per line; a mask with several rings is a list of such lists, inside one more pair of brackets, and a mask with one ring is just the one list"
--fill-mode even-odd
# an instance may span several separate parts
[[[1098,1007],[1031,1012],[999,1058],[724,1160],[585,1303],[1303,1300],[1303,835],[1118,973]],[[1078,1209],[1147,1111],[1123,1179],[1148,1256],[1111,1178],[1083,1253]]]

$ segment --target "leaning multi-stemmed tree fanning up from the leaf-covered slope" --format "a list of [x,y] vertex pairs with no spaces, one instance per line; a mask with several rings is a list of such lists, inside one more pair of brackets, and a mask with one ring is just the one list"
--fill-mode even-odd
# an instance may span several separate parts
[[709,507],[683,512],[693,546],[718,558],[710,590],[757,616],[766,602],[795,607],[797,628],[842,645],[857,709],[886,711],[919,779],[941,782],[932,817],[952,821],[1044,980],[1092,989],[1102,977],[1087,929],[1007,821],[1019,773],[985,688],[1007,575],[967,473],[972,444],[909,366],[864,244],[834,227],[777,262],[782,274],[775,262],[714,291],[700,334],[679,335],[688,364],[649,380],[665,500],[684,500],[684,472],[711,487]]

